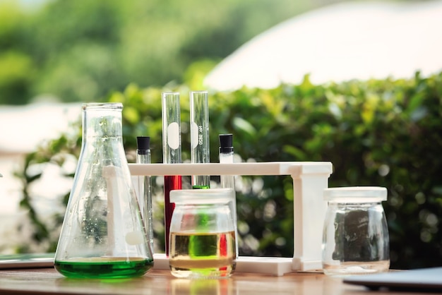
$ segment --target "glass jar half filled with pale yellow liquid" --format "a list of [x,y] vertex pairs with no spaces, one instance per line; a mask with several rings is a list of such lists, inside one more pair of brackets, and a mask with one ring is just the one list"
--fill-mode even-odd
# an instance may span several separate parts
[[170,192],[169,266],[181,278],[229,277],[237,263],[232,188]]

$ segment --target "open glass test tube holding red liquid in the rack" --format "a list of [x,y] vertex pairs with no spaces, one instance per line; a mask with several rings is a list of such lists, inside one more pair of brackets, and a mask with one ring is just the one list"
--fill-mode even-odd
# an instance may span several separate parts
[[[179,93],[162,93],[162,157],[163,163],[181,163],[181,115]],[[165,176],[165,251],[169,256],[169,229],[174,203],[170,203],[170,191],[182,188],[181,175]]]

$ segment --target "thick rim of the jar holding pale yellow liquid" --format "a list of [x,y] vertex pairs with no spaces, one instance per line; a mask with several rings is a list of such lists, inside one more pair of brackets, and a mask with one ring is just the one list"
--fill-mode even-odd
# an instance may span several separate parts
[[232,188],[202,188],[170,191],[170,202],[179,204],[221,204],[234,200]]

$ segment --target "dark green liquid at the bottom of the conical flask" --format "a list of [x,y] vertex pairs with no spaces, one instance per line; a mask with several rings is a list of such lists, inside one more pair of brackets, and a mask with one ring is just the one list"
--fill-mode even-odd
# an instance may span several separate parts
[[114,279],[145,275],[153,267],[153,260],[145,258],[83,258],[81,260],[56,260],[54,267],[66,277]]

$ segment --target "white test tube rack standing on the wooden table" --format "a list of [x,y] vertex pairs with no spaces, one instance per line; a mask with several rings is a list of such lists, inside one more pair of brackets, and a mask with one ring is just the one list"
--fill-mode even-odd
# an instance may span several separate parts
[[[323,190],[333,171],[331,162],[251,162],[208,164],[129,164],[132,176],[165,175],[290,175],[293,179],[293,258],[240,256],[235,272],[281,276],[289,272],[321,270],[323,221],[327,203]],[[154,269],[169,270],[165,254],[154,254]]]

